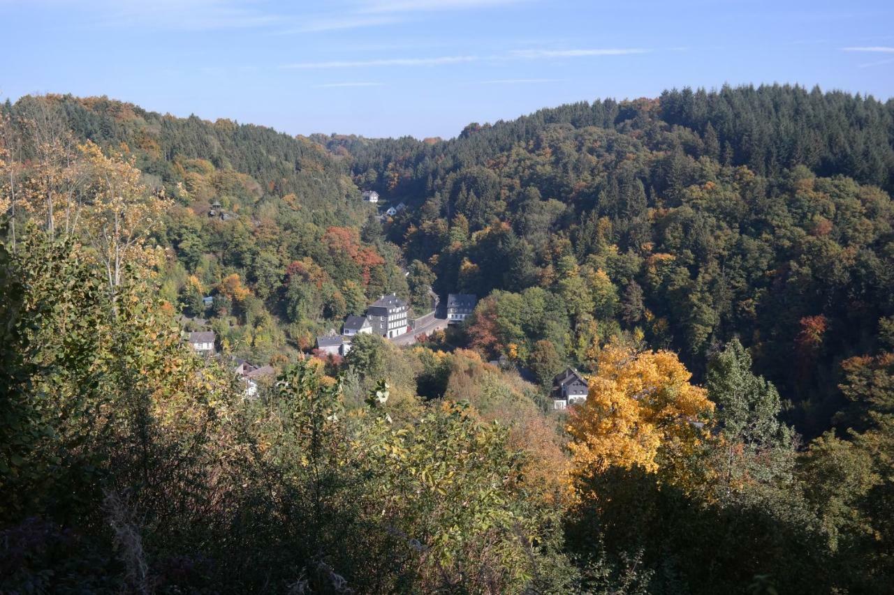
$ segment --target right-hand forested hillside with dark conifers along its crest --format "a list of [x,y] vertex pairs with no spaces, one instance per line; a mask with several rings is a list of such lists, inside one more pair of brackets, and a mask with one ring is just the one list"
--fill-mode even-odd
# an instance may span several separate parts
[[316,137],[415,205],[387,232],[443,291],[510,292],[481,306],[481,348],[592,369],[595,343],[638,330],[701,379],[738,337],[808,435],[894,313],[892,138],[894,102],[779,86],[564,105],[447,142]]

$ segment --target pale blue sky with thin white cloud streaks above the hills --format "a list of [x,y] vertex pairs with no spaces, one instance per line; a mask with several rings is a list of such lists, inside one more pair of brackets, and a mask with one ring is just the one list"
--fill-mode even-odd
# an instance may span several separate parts
[[894,96],[894,2],[0,0],[0,96],[291,134],[455,136],[540,107],[790,82]]

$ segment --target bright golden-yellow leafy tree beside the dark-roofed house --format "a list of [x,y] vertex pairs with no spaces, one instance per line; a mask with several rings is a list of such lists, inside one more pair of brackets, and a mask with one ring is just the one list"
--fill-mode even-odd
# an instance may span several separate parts
[[685,484],[686,462],[709,435],[707,391],[670,351],[609,345],[598,356],[586,402],[569,417],[574,475],[640,467]]

